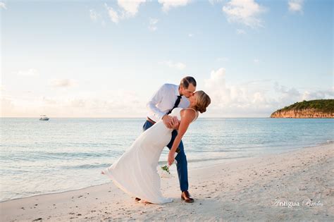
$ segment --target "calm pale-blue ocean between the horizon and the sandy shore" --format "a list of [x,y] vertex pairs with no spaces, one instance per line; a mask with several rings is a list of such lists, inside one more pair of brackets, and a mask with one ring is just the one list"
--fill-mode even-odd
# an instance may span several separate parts
[[[144,121],[1,118],[0,201],[110,183],[101,170],[130,147]],[[333,140],[330,118],[199,118],[183,137],[189,170]],[[159,164],[167,154],[166,147]]]

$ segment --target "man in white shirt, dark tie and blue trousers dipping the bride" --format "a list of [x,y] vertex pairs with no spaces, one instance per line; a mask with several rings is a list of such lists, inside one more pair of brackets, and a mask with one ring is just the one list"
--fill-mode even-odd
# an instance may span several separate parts
[[[163,120],[163,123],[168,128],[173,128],[171,142],[167,145],[169,149],[172,148],[176,135],[178,135],[178,126],[180,121],[176,116],[168,116],[171,111],[176,107],[187,108],[190,105],[190,101],[187,99],[194,94],[196,90],[196,80],[191,76],[186,76],[180,82],[180,85],[164,84],[160,89],[151,97],[151,100],[147,103],[147,121],[143,125],[143,130],[147,130],[154,123],[159,120]],[[178,179],[180,182],[180,190],[182,192],[181,199],[185,202],[194,202],[194,199],[190,197],[188,192],[188,171],[187,171],[187,157],[185,156],[185,150],[183,142],[181,140],[178,147],[180,152],[175,156],[178,168]],[[140,200],[139,198],[136,198]]]

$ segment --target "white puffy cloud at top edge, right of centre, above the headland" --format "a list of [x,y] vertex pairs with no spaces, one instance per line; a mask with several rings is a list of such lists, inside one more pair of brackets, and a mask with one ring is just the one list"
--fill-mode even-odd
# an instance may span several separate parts
[[266,8],[260,6],[254,0],[232,0],[223,6],[223,12],[228,17],[229,23],[242,23],[249,27],[263,27],[259,14]]

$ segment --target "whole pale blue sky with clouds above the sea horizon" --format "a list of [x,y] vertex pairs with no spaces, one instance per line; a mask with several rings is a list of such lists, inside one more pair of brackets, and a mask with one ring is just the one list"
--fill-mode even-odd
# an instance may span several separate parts
[[204,118],[334,99],[333,1],[0,1],[1,117],[145,118],[191,75]]

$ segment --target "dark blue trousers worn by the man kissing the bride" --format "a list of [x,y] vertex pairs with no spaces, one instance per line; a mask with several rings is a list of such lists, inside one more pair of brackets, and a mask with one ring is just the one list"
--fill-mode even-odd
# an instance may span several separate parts
[[[146,121],[142,126],[143,131],[147,130],[152,125],[153,125],[152,123]],[[167,145],[168,149],[172,149],[173,142],[177,135],[178,131],[173,130],[171,142],[169,142]],[[178,168],[178,180],[180,182],[180,190],[183,192],[188,190],[188,169],[187,169],[187,156],[185,156],[185,149],[183,147],[182,140],[178,148],[180,149],[180,152],[178,153],[178,155],[175,156],[175,160],[177,161],[176,167]]]

